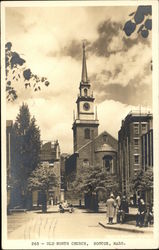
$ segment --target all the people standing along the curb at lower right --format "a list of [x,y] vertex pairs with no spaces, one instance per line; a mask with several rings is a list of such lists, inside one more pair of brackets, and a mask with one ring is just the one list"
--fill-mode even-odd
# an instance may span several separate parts
[[[116,198],[113,193],[110,194],[106,202],[108,224],[124,223],[126,214],[129,213],[129,204],[126,196]],[[136,214],[136,226],[143,227],[153,224],[153,209],[149,204],[145,204],[143,199],[138,201],[138,212]]]

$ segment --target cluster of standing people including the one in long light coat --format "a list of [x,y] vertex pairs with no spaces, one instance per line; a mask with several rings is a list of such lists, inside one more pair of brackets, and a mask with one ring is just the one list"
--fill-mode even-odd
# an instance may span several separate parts
[[125,214],[129,212],[128,201],[126,196],[122,198],[118,195],[115,199],[113,193],[110,194],[106,202],[108,224],[124,223]]

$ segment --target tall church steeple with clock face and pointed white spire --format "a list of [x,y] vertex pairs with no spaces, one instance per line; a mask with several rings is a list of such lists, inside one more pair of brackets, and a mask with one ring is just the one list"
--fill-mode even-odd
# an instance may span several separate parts
[[99,121],[94,97],[87,75],[85,44],[83,43],[82,76],[77,97],[77,115],[73,123],[74,152],[98,136]]

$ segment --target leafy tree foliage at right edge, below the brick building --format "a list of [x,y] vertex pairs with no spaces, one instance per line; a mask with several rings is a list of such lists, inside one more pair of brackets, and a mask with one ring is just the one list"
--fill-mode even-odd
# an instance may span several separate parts
[[149,167],[146,171],[141,170],[133,179],[135,191],[148,191],[153,189],[153,168]]

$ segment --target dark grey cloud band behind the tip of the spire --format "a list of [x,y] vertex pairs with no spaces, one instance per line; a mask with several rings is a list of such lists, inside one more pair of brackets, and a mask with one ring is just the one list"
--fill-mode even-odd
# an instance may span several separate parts
[[[98,24],[97,38],[95,40],[85,40],[87,56],[96,55],[99,57],[109,57],[111,54],[127,52],[136,44],[150,46],[151,35],[145,39],[136,31],[131,37],[126,37],[123,31],[123,23],[112,21],[110,18]],[[68,41],[59,51],[51,51],[49,56],[70,56],[75,60],[81,59],[81,41],[73,39]]]

